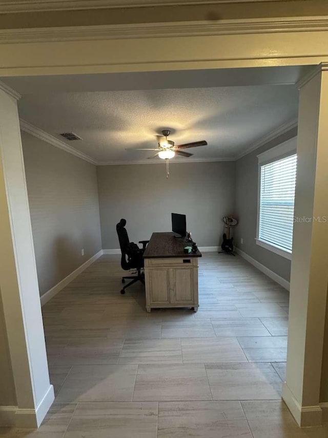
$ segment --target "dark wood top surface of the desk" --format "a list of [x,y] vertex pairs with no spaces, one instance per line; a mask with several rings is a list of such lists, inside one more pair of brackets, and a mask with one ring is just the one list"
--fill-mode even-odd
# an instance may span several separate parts
[[201,257],[201,253],[184,253],[183,248],[191,246],[186,237],[174,237],[174,233],[153,233],[144,253],[144,258],[190,258]]

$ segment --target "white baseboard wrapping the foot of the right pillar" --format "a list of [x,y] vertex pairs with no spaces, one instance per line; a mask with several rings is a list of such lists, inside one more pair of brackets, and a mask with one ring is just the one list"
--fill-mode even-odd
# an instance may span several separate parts
[[282,385],[282,398],[300,427],[314,427],[322,424],[322,409],[318,406],[301,406],[286,382]]

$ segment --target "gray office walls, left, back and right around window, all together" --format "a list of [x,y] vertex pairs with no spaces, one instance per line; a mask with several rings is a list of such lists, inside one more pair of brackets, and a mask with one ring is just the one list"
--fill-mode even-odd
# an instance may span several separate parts
[[187,215],[199,246],[220,244],[222,216],[237,214],[235,244],[289,280],[290,261],[255,243],[257,155],[295,135],[293,129],[237,162],[171,163],[167,180],[162,162],[96,167],[22,132],[40,295],[101,247],[118,249],[120,218],[137,242],[170,231],[171,212]]

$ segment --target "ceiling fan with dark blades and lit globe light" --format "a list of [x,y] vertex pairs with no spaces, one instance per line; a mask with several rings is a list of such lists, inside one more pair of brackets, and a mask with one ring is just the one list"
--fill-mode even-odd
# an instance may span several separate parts
[[[169,178],[169,160],[173,158],[175,155],[179,155],[181,157],[191,157],[193,154],[189,154],[188,152],[183,152],[181,149],[187,149],[189,147],[197,147],[197,146],[206,146],[207,141],[201,140],[201,141],[195,141],[192,143],[186,143],[186,144],[179,144],[175,146],[174,141],[168,140],[168,137],[170,135],[171,131],[170,129],[163,129],[162,135],[163,138],[159,139],[158,141],[158,148],[152,149],[135,149],[135,150],[156,150],[156,154],[149,157],[155,158],[159,157],[163,160],[166,160],[166,168],[167,168],[167,178]],[[165,137],[165,138],[164,138]]]

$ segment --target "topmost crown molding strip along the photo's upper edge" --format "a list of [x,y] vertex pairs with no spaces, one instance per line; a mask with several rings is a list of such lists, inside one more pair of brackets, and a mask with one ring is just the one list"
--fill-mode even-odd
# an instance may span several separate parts
[[0,13],[38,12],[74,9],[140,8],[147,6],[186,6],[234,3],[267,3],[282,0],[3,0]]

